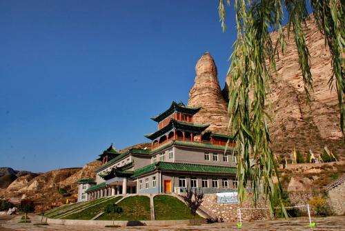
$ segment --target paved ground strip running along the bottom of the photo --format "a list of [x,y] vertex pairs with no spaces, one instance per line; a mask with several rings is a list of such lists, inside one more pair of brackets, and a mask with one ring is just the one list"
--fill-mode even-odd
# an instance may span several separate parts
[[[17,216],[14,219],[6,221],[6,223],[0,223],[1,231],[14,231],[14,230],[26,230],[26,231],[99,231],[99,230],[132,230],[132,231],[219,231],[219,230],[264,230],[264,231],[299,231],[299,230],[344,230],[345,231],[345,217],[326,217],[326,218],[313,218],[313,221],[317,223],[317,228],[308,227],[308,218],[299,217],[298,219],[286,220],[274,220],[274,221],[252,221],[244,222],[242,228],[237,228],[236,223],[213,223],[204,225],[174,225],[170,227],[159,226],[136,226],[136,227],[120,227],[120,228],[92,228],[81,226],[66,226],[66,225],[48,225],[37,226],[33,223],[39,221],[32,221],[32,223],[18,223],[21,216]],[[4,220],[0,220],[4,221]]]

